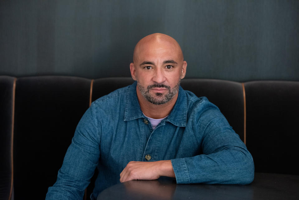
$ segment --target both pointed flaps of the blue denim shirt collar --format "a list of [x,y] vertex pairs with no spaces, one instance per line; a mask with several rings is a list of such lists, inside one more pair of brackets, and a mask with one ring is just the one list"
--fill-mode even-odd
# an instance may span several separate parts
[[[126,92],[126,108],[124,121],[134,120],[137,118],[145,117],[140,109],[139,101],[136,94],[135,81],[130,85]],[[187,95],[183,88],[180,86],[178,90],[178,99],[175,102],[172,111],[165,119],[176,126],[186,127],[187,124]]]

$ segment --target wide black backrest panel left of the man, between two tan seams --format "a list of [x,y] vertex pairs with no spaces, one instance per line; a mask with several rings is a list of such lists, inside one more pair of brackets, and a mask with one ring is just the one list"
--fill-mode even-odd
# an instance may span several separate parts
[[15,100],[15,200],[45,199],[75,128],[89,106],[91,80],[18,78]]

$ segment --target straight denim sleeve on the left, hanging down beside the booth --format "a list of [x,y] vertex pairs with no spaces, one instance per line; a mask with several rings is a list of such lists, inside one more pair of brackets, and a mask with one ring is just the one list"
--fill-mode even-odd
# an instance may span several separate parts
[[90,183],[100,156],[100,124],[97,110],[92,106],[85,112],[77,125],[58,171],[57,181],[49,187],[46,200],[83,199],[84,190]]

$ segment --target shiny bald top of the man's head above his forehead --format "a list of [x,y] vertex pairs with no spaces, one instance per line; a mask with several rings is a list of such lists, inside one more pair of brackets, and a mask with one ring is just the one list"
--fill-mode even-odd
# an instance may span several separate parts
[[175,39],[162,33],[154,33],[142,38],[136,44],[133,54],[133,62],[136,63],[140,60],[140,54],[149,49],[155,49],[157,52],[162,52],[165,48],[171,49],[173,54],[178,55],[180,61],[184,60],[182,49]]

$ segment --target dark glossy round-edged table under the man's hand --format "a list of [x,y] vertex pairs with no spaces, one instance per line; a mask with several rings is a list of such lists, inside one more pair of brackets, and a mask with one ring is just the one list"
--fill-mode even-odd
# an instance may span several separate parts
[[255,173],[249,185],[176,184],[174,178],[132,180],[102,191],[97,200],[299,199],[299,176]]

